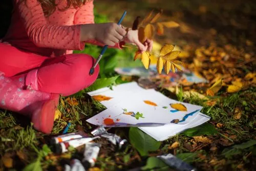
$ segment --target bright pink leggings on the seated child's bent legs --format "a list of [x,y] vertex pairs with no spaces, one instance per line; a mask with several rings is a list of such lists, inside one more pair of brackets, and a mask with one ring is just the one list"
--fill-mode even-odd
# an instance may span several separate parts
[[89,87],[97,78],[99,66],[89,75],[95,59],[87,54],[46,57],[0,43],[0,71],[5,76],[26,75],[42,92],[72,95]]

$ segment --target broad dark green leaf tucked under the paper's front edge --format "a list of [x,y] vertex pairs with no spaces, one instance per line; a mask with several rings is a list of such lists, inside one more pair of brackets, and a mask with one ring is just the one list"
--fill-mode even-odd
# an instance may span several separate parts
[[145,134],[137,127],[130,127],[129,139],[141,156],[146,156],[149,151],[156,151],[160,142]]

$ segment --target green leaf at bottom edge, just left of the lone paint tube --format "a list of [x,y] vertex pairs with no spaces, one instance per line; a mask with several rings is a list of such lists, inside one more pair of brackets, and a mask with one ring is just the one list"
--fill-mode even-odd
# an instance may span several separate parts
[[[161,169],[165,167],[166,170],[169,169],[169,166],[165,164],[161,159],[157,157],[150,157],[146,161],[146,165],[143,166],[141,169],[142,170],[149,170],[149,169]],[[163,170],[163,169],[161,169]]]

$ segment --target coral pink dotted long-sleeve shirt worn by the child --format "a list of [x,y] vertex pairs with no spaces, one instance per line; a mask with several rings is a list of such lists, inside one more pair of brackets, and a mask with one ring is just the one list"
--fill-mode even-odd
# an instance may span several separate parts
[[[70,7],[66,0],[56,1],[57,8],[45,17],[37,0],[13,0],[13,15],[6,36],[2,39],[14,47],[43,56],[70,54],[82,50],[85,43],[103,46],[95,40],[80,41],[81,24],[94,24],[93,0],[79,8]],[[114,48],[120,48],[117,44]]]

